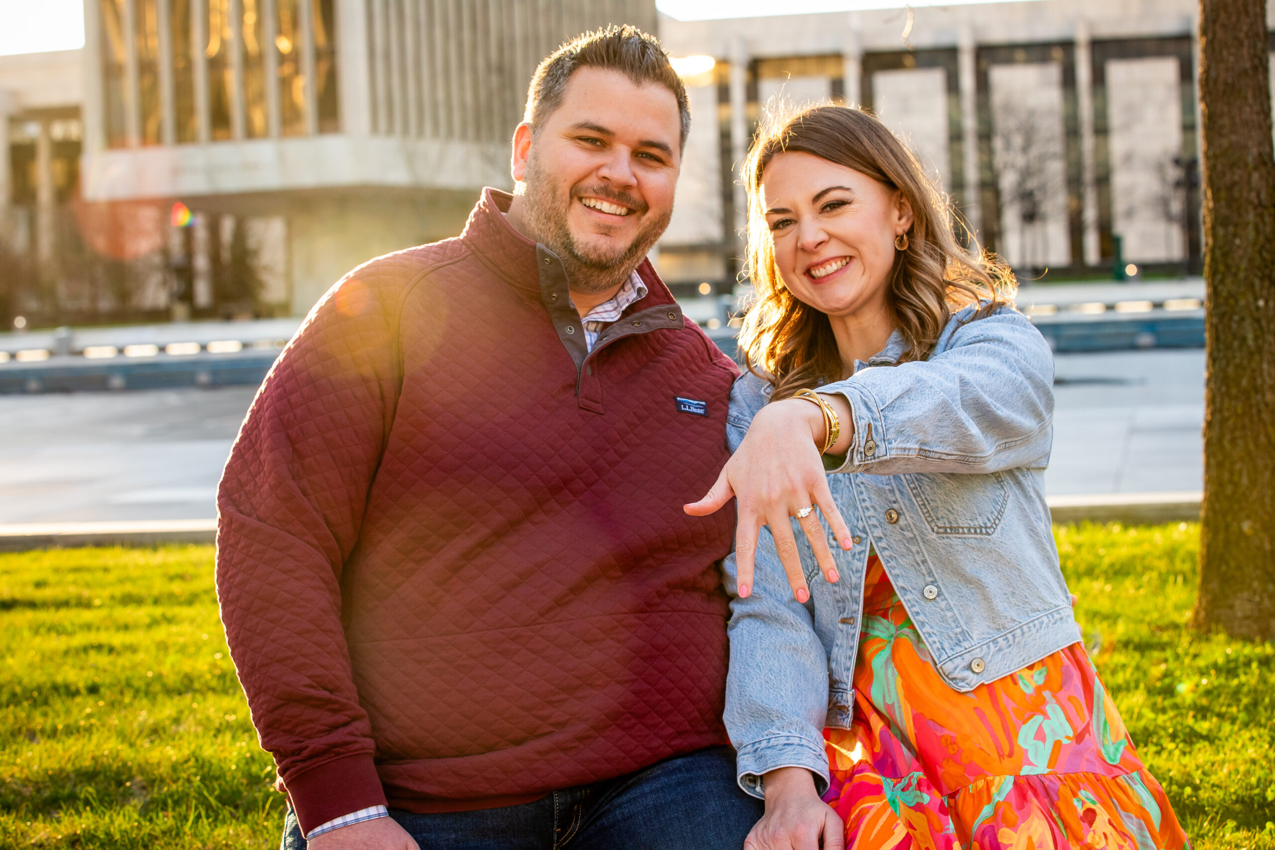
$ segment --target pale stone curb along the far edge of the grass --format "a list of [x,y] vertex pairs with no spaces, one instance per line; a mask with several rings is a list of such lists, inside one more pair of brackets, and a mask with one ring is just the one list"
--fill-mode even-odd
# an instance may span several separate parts
[[[1168,493],[1099,493],[1054,496],[1049,514],[1058,525],[1072,522],[1193,522],[1200,519],[1198,491]],[[68,549],[89,545],[150,547],[167,543],[214,543],[217,520],[142,520],[133,522],[38,522],[0,525],[0,552]]]

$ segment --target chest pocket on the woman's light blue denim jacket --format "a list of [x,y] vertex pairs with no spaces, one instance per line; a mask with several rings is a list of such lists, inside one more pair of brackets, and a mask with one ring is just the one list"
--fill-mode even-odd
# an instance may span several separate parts
[[993,534],[1010,502],[1010,489],[1001,472],[982,475],[904,473],[901,478],[917,511],[935,534]]

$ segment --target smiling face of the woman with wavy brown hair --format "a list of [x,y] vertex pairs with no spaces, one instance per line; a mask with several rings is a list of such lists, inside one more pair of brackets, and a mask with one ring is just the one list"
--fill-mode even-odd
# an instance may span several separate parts
[[813,154],[776,154],[761,173],[775,266],[799,301],[829,316],[885,306],[894,240],[912,226],[901,192]]

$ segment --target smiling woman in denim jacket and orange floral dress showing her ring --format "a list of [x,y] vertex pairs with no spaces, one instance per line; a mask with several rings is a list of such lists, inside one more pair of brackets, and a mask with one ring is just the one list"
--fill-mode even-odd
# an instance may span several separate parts
[[1072,618],[1053,358],[1012,277],[858,110],[765,130],[743,173],[751,373],[687,510],[738,496],[725,724],[766,802],[746,847],[1186,846]]

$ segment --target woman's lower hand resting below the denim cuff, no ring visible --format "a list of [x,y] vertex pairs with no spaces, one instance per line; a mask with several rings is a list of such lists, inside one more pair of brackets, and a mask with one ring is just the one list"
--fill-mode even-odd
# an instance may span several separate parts
[[805,767],[780,767],[765,776],[766,813],[752,826],[743,850],[844,850],[845,826],[815,793]]

